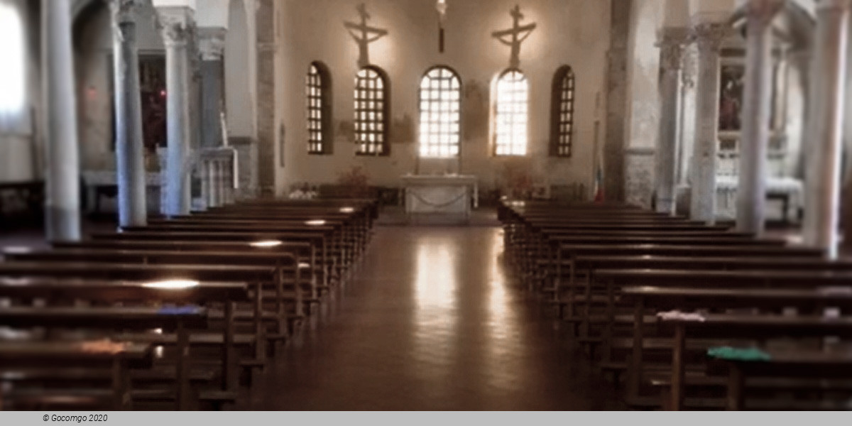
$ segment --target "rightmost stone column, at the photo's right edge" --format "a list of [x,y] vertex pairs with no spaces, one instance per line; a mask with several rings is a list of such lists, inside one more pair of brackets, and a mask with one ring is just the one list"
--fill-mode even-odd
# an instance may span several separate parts
[[812,63],[808,129],[809,147],[805,191],[811,204],[805,209],[804,241],[837,256],[840,196],[840,147],[846,85],[849,36],[849,0],[817,3],[815,56]]

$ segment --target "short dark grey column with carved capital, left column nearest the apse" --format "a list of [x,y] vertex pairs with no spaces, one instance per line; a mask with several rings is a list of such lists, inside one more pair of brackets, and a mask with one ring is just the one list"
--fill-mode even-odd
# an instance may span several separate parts
[[224,28],[199,28],[201,50],[201,147],[221,147],[224,101]]

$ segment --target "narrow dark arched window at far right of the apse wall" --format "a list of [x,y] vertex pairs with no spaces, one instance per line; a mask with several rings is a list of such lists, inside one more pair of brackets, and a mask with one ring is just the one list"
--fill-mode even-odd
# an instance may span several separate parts
[[574,72],[561,66],[553,77],[550,110],[550,155],[571,157],[574,130]]

